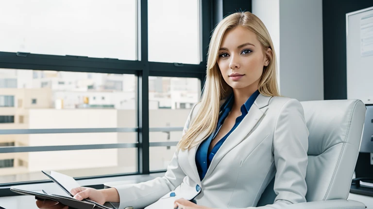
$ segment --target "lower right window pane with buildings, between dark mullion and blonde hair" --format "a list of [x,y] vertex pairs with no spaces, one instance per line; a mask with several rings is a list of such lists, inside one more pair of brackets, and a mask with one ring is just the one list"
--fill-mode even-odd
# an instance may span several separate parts
[[[151,132],[150,142],[173,142],[181,139],[182,130],[192,106],[201,97],[201,82],[198,78],[149,77],[149,126],[165,128]],[[167,107],[167,108],[165,108]],[[170,131],[167,128],[178,128]],[[166,169],[175,146],[151,147],[150,169]],[[161,153],[161,154],[160,154]]]

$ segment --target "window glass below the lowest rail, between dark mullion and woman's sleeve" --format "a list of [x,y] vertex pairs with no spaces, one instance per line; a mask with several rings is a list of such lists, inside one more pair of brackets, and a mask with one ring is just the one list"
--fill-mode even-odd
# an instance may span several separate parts
[[176,147],[150,147],[149,148],[149,164],[150,170],[165,170],[170,163]]

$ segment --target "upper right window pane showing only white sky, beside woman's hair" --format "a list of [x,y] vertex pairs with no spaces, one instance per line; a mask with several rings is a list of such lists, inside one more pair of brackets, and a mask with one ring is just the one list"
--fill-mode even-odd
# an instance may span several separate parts
[[199,64],[200,1],[148,0],[149,61]]

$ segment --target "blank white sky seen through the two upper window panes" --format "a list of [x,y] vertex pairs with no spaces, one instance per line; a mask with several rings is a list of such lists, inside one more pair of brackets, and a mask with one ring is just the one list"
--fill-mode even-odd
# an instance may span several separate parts
[[[199,63],[199,0],[149,0],[149,60]],[[0,51],[136,60],[136,0],[0,0]]]

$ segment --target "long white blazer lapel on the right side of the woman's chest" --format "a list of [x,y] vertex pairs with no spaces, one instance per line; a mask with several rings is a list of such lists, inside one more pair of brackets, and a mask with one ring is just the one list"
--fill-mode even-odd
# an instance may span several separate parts
[[[251,133],[256,123],[263,117],[264,113],[268,109],[268,104],[271,97],[263,96],[259,94],[254,104],[251,106],[247,115],[242,119],[237,128],[228,136],[228,138],[221,145],[220,149],[211,161],[209,168],[207,169],[206,178],[213,172],[215,167],[219,164],[220,160],[233,148],[235,148],[243,139]],[[197,173],[198,174],[198,173]]]

